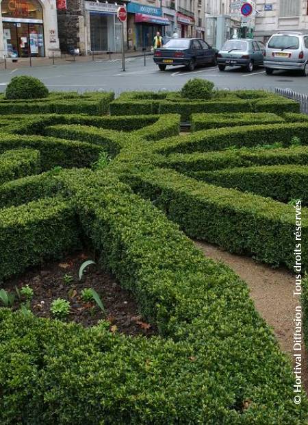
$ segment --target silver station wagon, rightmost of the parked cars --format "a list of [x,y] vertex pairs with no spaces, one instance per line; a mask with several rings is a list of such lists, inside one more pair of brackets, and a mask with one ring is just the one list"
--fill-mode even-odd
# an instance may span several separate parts
[[266,46],[264,66],[267,74],[275,69],[300,71],[308,75],[308,34],[277,33],[270,37]]

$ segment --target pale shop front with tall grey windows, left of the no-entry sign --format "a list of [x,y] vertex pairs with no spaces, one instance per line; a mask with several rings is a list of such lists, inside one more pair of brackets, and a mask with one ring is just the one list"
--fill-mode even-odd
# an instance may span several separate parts
[[121,23],[116,17],[118,5],[85,1],[87,47],[86,51],[121,50]]

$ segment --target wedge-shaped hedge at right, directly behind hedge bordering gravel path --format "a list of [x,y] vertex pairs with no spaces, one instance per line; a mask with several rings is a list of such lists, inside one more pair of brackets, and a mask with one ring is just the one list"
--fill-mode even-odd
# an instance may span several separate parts
[[288,202],[291,199],[302,199],[303,205],[308,202],[308,167],[271,165],[196,171],[191,176],[209,184],[257,193],[280,202]]

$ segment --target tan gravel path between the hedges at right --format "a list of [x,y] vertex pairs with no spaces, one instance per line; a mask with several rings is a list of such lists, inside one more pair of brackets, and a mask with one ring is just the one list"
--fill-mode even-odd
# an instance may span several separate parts
[[[294,312],[297,303],[293,297],[294,275],[286,269],[272,269],[256,263],[252,258],[230,254],[208,243],[195,242],[203,253],[213,260],[229,265],[245,280],[251,291],[257,311],[274,330],[281,350],[293,360]],[[308,391],[307,352],[302,352],[303,384]]]

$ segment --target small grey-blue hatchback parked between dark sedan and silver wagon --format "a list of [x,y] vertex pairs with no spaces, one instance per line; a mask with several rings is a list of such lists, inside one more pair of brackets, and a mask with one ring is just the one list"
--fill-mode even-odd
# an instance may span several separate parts
[[224,71],[226,66],[242,66],[252,72],[254,66],[263,65],[265,51],[263,42],[251,38],[227,40],[218,52],[218,68]]

